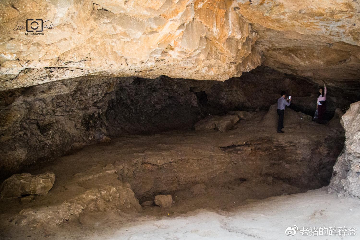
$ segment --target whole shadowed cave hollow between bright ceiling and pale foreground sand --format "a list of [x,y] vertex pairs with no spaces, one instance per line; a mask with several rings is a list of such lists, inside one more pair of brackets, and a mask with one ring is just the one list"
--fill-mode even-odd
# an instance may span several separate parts
[[[273,106],[282,89],[294,96],[283,135]],[[317,89],[309,79],[259,67],[225,82],[81,77],[2,91],[1,178],[55,173],[47,195],[26,205],[1,200],[2,230],[9,238],[28,227],[55,236],[92,214],[160,217],[167,210],[139,205],[158,194],[172,195],[168,211],[177,216],[327,186],[344,146],[334,112],[358,92],[329,86],[332,120],[318,124],[304,114],[314,112]],[[234,110],[247,117],[227,132],[193,129]],[[199,184],[204,191],[194,194]]]

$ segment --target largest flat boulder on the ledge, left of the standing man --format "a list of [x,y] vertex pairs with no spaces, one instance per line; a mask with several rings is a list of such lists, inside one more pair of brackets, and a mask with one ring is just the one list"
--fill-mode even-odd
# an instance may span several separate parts
[[217,129],[220,132],[227,132],[239,121],[237,115],[226,114],[225,116],[210,115],[195,123],[195,130]]

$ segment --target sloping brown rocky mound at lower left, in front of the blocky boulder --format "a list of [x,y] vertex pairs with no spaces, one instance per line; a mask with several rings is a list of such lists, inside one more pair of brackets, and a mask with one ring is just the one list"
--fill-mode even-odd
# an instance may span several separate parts
[[41,199],[46,205],[36,199],[27,208],[20,205],[21,210],[15,216],[6,217],[17,225],[40,228],[77,221],[89,210],[141,210],[130,185],[118,179],[112,164],[95,164],[65,181],[60,179],[58,187],[46,197]]

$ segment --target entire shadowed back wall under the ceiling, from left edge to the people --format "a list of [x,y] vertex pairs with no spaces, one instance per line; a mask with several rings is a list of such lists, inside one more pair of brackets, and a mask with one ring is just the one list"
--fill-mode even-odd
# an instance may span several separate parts
[[[79,77],[0,92],[1,177],[107,136],[192,128],[230,110],[268,110],[280,90],[313,113],[318,85],[260,67],[225,82],[169,77]],[[328,117],[353,95],[328,86]]]

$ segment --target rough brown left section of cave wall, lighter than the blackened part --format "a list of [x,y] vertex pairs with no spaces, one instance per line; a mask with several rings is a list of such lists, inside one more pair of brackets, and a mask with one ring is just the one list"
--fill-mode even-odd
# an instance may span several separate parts
[[0,92],[1,177],[102,141],[119,78],[79,78]]

